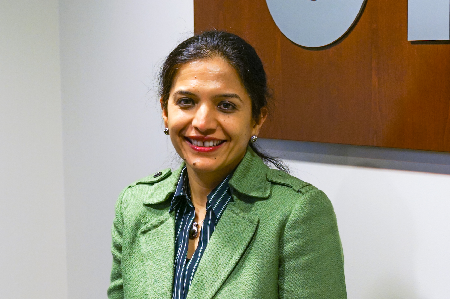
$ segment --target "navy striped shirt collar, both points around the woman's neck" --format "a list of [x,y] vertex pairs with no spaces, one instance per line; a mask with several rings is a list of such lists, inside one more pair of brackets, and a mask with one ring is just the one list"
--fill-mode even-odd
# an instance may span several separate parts
[[[224,180],[220,182],[219,185],[217,185],[207,196],[207,204],[206,204],[206,210],[214,211],[215,215],[220,215],[220,212],[223,210],[223,207],[229,202],[233,201],[233,198],[231,198],[231,192],[229,187],[229,180],[233,176],[233,172],[231,172],[228,176],[225,177]],[[171,207],[169,209],[169,213],[175,208],[177,208],[180,205],[181,200],[185,199],[190,207],[193,208],[193,204],[190,199],[190,194],[188,195],[189,190],[187,184],[188,181],[186,178],[188,177],[188,173],[186,170],[186,166],[181,170],[180,179],[178,180],[178,184],[175,188],[175,193],[173,195],[172,201],[171,201]],[[231,200],[230,200],[231,198]]]

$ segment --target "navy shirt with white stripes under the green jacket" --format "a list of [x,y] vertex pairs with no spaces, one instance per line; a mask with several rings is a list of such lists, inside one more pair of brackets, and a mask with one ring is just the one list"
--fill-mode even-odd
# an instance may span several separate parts
[[186,167],[181,171],[180,180],[175,189],[169,213],[175,211],[175,263],[173,272],[172,299],[184,299],[189,291],[192,279],[197,270],[203,252],[206,249],[220,216],[228,202],[233,201],[228,181],[232,174],[214,188],[207,196],[206,216],[203,220],[198,246],[191,259],[186,259],[189,243],[189,229],[195,218],[195,209],[189,198],[187,189]]

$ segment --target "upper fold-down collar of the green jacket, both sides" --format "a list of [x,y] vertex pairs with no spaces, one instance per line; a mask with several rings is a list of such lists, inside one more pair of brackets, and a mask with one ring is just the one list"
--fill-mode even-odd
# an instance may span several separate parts
[[[171,193],[175,192],[181,171],[185,163],[173,171],[165,180],[155,184],[154,188],[144,196],[144,204],[156,204],[166,201]],[[270,181],[266,178],[266,172],[270,168],[264,164],[260,157],[248,146],[247,152],[229,180],[229,185],[239,193],[250,197],[269,198]],[[139,180],[136,185],[148,184],[146,180]]]

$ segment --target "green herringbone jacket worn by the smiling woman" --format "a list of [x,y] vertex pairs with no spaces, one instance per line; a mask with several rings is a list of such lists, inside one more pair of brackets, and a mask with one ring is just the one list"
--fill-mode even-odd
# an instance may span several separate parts
[[[171,299],[176,171],[122,191],[112,226],[110,299]],[[187,299],[347,298],[336,216],[314,186],[270,169],[252,149],[229,181],[226,207]]]

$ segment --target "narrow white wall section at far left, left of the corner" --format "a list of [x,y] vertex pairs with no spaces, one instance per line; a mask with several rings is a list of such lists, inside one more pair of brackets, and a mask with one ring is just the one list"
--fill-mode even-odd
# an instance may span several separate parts
[[67,298],[58,1],[0,1],[0,298]]

